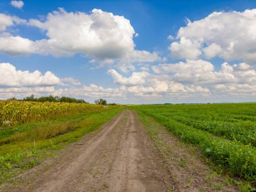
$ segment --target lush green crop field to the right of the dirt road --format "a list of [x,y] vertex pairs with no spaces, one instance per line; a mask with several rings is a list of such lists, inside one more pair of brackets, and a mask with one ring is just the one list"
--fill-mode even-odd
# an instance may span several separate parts
[[232,176],[256,181],[256,104],[130,106],[156,119]]

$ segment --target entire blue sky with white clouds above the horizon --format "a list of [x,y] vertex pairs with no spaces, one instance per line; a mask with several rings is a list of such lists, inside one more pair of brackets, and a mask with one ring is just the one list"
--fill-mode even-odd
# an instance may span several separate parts
[[0,3],[2,99],[255,101],[256,1],[22,2]]

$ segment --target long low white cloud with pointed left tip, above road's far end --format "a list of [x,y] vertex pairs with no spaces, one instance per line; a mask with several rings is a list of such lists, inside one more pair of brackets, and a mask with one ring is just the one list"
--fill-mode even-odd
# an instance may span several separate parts
[[130,77],[123,77],[115,69],[108,70],[114,82],[119,84],[120,89],[133,96],[164,96],[167,94],[208,94],[207,88],[201,86],[186,86],[174,82],[168,75],[156,75],[148,71],[133,72]]

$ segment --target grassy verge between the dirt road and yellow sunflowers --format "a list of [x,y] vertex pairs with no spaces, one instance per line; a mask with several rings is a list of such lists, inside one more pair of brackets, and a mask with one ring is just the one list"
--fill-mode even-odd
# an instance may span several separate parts
[[9,131],[0,139],[0,183],[16,181],[15,176],[23,170],[40,164],[54,150],[100,129],[101,125],[110,121],[121,110],[123,107],[109,107],[86,115],[13,127],[15,131]]

